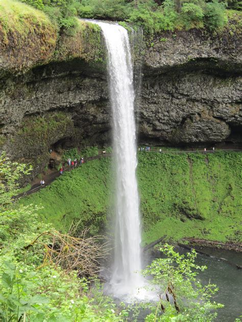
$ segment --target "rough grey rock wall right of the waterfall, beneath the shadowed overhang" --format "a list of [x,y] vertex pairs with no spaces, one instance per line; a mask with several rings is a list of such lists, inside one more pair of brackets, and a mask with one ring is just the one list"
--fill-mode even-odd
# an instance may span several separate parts
[[226,141],[242,122],[241,79],[203,72],[144,78],[140,135],[170,144]]

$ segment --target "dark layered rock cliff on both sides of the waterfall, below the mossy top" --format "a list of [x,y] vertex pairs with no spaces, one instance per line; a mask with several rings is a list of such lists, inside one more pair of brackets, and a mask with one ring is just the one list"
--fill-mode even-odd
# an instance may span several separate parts
[[[140,143],[242,144],[239,44],[238,33],[212,38],[196,30],[163,33],[147,43],[136,106]],[[70,50],[71,41],[64,46],[62,39],[61,47]],[[49,162],[50,148],[110,144],[104,54],[97,64],[98,49],[94,63],[88,48],[85,57],[78,52],[76,44],[74,56],[62,60],[59,53],[58,60],[24,73],[7,73],[4,64],[2,146],[13,158],[34,163],[33,175]]]

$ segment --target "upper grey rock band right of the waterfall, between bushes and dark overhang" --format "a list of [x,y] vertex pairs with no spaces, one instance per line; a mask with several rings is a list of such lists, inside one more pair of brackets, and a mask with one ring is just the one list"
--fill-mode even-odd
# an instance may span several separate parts
[[156,35],[144,55],[147,73],[162,73],[170,68],[221,69],[241,71],[241,35],[225,31],[223,35],[208,35],[203,30],[164,32]]

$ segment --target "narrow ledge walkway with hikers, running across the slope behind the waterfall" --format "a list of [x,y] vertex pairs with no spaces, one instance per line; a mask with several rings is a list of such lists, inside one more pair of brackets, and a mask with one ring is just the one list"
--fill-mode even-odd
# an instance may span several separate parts
[[[241,149],[220,149],[220,150],[193,150],[193,151],[171,151],[171,150],[167,150],[167,151],[159,151],[159,150],[150,150],[150,151],[139,151],[140,153],[160,153],[160,154],[163,154],[163,153],[170,153],[170,154],[182,154],[182,153],[202,153],[202,154],[207,154],[207,153],[216,153],[216,152],[220,152],[220,151],[223,151],[223,152],[242,152]],[[112,153],[105,153],[105,154],[99,154],[99,155],[95,155],[95,156],[90,156],[90,157],[87,157],[85,160],[84,160],[84,163],[88,162],[88,161],[92,161],[92,160],[96,160],[96,159],[101,159],[102,157],[110,157],[112,156]],[[80,164],[77,165],[77,167],[82,167]],[[76,168],[77,168],[76,167]],[[72,169],[72,167],[65,167],[65,170],[64,172],[66,171],[71,171],[71,170],[75,170],[75,167],[74,169]],[[52,173],[50,174],[46,174],[44,176],[42,176],[42,179],[45,181],[45,186],[49,185],[50,183],[52,183],[57,177],[61,176],[60,172],[59,171],[53,171]],[[40,181],[40,180],[39,180]],[[34,183],[30,190],[26,191],[25,193],[21,193],[17,196],[14,197],[14,199],[18,199],[18,198],[21,198],[21,197],[25,197],[25,196],[28,196],[28,195],[31,195],[37,191],[39,191],[41,189],[41,186],[40,186],[40,183]]]

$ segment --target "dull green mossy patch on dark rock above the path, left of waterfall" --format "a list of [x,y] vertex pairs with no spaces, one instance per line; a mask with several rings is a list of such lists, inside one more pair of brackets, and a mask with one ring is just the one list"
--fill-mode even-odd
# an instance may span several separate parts
[[63,112],[50,112],[25,117],[20,130],[9,139],[8,151],[14,159],[33,165],[32,177],[40,173],[50,160],[50,147],[59,139],[68,138],[74,124]]

